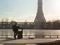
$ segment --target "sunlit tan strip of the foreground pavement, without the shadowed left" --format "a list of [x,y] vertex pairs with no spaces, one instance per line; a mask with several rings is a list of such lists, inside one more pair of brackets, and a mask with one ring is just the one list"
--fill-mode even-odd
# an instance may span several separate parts
[[48,43],[48,42],[54,42],[60,39],[17,39],[17,40],[11,40],[3,42],[3,44],[7,45],[13,45],[13,44],[38,44],[38,43]]

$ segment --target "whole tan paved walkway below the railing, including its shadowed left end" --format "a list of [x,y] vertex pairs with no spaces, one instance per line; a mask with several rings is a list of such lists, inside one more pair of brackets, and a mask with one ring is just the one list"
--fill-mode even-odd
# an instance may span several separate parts
[[50,42],[55,42],[55,41],[60,41],[60,39],[43,39],[43,38],[35,38],[35,39],[5,39],[5,38],[0,38],[0,45],[7,44],[7,45],[20,45],[20,44],[38,44],[38,43],[50,43]]

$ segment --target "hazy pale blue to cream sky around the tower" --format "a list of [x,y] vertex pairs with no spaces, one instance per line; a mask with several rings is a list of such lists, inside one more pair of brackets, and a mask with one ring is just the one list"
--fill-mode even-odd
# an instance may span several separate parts
[[[33,22],[37,13],[38,0],[0,0],[0,21],[8,18]],[[43,13],[46,21],[60,20],[60,0],[43,0]]]

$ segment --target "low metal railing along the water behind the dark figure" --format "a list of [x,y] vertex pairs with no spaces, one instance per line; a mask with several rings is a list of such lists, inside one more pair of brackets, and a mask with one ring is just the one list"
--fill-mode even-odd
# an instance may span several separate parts
[[[59,39],[60,35],[22,35],[24,38],[34,39],[34,38],[43,38],[43,39]],[[2,38],[13,38],[13,35],[0,35]]]

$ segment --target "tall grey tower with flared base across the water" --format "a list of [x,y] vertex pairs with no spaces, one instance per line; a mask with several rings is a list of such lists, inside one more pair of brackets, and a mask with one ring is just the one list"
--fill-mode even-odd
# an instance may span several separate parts
[[37,15],[34,20],[35,23],[35,28],[40,28],[41,23],[46,22],[44,14],[43,14],[43,9],[42,9],[42,0],[38,0],[38,9],[37,9]]

